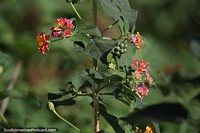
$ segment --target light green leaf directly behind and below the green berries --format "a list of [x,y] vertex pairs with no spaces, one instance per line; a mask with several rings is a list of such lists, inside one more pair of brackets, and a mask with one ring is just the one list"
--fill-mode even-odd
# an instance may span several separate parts
[[133,57],[136,52],[136,48],[133,46],[132,43],[127,42],[127,52],[122,54],[120,58],[116,58],[116,62],[119,68],[129,67],[133,62]]

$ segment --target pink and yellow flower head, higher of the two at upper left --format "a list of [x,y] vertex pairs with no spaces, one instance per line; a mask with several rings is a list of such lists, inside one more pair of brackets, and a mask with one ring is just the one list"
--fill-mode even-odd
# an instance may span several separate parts
[[55,21],[58,25],[53,26],[51,28],[51,35],[54,37],[67,37],[72,34],[72,29],[74,29],[74,25],[70,19],[59,18]]

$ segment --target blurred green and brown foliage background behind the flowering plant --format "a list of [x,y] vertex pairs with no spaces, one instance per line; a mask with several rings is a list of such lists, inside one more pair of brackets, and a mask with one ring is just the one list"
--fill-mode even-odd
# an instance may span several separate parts
[[[130,0],[130,3],[139,12],[135,31],[145,41],[136,58],[150,62],[151,75],[158,86],[157,90],[150,90],[145,104],[178,102],[189,110],[189,122],[159,122],[161,133],[200,132],[200,1]],[[92,24],[91,0],[75,7],[86,23]],[[98,7],[98,27],[102,31],[112,20]],[[67,39],[50,45],[45,55],[37,52],[35,41],[41,31],[50,34],[54,21],[60,17],[76,18],[65,0],[0,1],[0,97],[2,104],[2,99],[10,96],[5,117],[12,127],[49,127],[59,129],[59,133],[75,132],[47,109],[47,93],[58,92],[69,79],[76,80],[73,75],[90,67],[91,59],[73,51],[73,44]],[[104,36],[118,37],[117,26]],[[12,90],[7,91],[8,88]],[[130,111],[119,102],[113,104],[110,98],[105,99],[109,111],[115,115]],[[90,101],[79,98],[75,106],[58,107],[57,111],[83,133],[91,133]],[[105,120],[101,124],[102,129],[114,132]],[[1,129],[4,126],[1,121]]]

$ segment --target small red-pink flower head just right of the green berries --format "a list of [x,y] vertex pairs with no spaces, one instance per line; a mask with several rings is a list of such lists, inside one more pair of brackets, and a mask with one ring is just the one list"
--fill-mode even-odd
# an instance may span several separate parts
[[142,40],[142,36],[139,32],[137,32],[135,36],[132,34],[131,40],[138,50],[142,48],[141,45],[144,44],[144,41]]

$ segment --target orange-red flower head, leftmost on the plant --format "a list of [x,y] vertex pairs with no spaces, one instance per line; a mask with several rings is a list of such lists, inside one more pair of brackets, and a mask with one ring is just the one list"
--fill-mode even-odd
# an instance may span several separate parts
[[36,36],[36,42],[38,43],[38,52],[45,54],[45,51],[49,50],[50,35],[46,35],[44,32],[38,33]]

